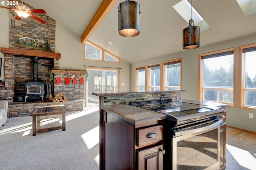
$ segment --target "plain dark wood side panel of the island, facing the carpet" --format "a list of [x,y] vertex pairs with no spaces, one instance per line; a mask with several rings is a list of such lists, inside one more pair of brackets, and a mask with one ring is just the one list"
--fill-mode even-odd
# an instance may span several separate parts
[[[134,169],[134,125],[121,117],[102,111],[103,140],[100,147],[101,170]],[[104,121],[105,120],[105,121]]]

